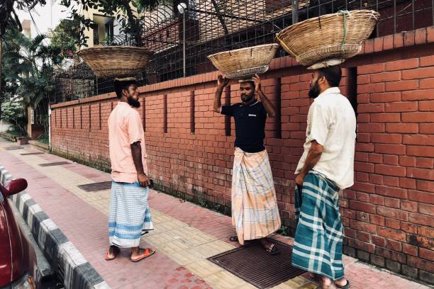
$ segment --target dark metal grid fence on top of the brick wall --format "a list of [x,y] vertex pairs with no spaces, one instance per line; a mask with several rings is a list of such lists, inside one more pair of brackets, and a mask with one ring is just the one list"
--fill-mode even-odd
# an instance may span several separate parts
[[[381,14],[371,38],[434,25],[434,0],[175,0],[145,16],[143,43],[155,55],[138,78],[153,84],[211,72],[207,55],[274,42],[293,23],[361,8]],[[116,41],[129,44],[125,37]],[[96,79],[84,64],[73,69],[57,74],[56,102],[113,91],[113,79]]]

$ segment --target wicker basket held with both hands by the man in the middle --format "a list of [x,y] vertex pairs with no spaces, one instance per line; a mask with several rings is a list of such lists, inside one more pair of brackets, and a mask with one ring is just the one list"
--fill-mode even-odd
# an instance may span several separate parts
[[230,79],[241,79],[267,72],[279,49],[276,43],[257,45],[209,55],[214,66]]

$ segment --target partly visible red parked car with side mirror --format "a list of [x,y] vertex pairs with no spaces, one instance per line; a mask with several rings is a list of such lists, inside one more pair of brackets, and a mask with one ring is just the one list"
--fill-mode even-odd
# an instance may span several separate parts
[[0,289],[38,288],[38,263],[35,249],[16,221],[8,196],[27,188],[25,179],[0,183]]

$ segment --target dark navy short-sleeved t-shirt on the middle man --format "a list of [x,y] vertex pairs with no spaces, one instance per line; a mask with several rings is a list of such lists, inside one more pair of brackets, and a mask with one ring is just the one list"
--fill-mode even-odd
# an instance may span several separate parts
[[235,103],[221,106],[221,114],[233,116],[235,120],[235,147],[245,152],[261,152],[265,149],[265,120],[267,111],[260,101],[245,106]]

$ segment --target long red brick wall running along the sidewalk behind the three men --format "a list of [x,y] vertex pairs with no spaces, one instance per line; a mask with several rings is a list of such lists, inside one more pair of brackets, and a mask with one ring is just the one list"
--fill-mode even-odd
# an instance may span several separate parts
[[[343,94],[357,107],[358,130],[355,185],[343,191],[340,200],[345,252],[430,283],[434,283],[433,41],[433,28],[369,40],[361,55],[345,62],[341,82]],[[145,97],[139,111],[150,176],[157,188],[228,213],[235,131],[233,120],[212,111],[216,77],[212,72],[142,87]],[[311,103],[310,78],[311,72],[290,57],[273,60],[262,77],[265,93],[280,103],[280,115],[267,120],[265,143],[279,208],[290,227],[294,169],[303,152]],[[222,103],[239,99],[234,82],[223,93]],[[52,106],[53,151],[109,169],[106,123],[113,106],[113,94]]]

